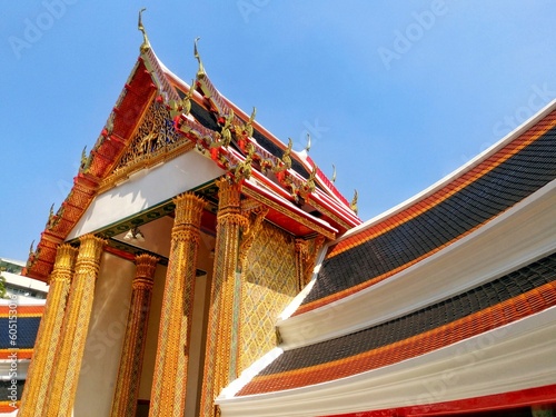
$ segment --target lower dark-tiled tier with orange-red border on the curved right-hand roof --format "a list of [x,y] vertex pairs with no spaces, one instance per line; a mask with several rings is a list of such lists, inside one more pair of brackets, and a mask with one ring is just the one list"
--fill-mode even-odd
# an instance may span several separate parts
[[556,254],[446,300],[347,336],[285,351],[237,393],[272,393],[406,360],[556,306]]

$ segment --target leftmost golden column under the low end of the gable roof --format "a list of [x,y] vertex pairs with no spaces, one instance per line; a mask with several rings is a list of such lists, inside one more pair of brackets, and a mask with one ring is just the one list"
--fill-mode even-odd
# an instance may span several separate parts
[[40,416],[47,399],[48,381],[52,374],[56,348],[62,329],[63,310],[68,297],[77,249],[61,245],[49,279],[47,304],[34,344],[33,357],[21,398],[20,417]]

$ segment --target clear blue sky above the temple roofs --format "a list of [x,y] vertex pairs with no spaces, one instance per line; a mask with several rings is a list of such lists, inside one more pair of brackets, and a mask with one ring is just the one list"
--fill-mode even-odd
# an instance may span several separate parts
[[556,98],[554,1],[13,1],[0,18],[0,257],[26,260],[139,54],[139,9],[183,80],[310,156],[364,220]]

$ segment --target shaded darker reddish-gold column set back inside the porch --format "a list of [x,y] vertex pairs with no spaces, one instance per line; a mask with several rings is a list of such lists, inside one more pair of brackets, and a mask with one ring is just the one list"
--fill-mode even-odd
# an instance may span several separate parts
[[136,415],[157,264],[158,258],[147,254],[136,257],[136,277],[131,284],[130,310],[110,414],[112,417]]

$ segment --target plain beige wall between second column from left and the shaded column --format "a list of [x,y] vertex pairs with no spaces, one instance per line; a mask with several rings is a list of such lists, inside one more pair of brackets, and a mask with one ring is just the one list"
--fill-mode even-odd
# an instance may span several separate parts
[[77,388],[75,417],[110,414],[131,299],[133,262],[102,256]]

